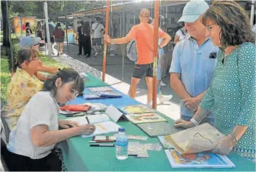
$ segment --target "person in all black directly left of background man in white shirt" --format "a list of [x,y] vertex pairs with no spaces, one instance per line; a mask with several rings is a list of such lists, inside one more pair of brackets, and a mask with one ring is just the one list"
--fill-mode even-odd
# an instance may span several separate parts
[[90,57],[91,42],[90,42],[90,23],[86,21],[81,28],[81,44],[83,46],[84,57]]

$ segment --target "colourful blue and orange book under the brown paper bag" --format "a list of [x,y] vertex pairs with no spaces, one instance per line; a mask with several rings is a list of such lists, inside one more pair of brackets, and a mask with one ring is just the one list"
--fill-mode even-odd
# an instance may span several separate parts
[[191,153],[181,155],[174,149],[166,149],[165,153],[173,169],[191,168],[235,168],[226,155],[215,153]]

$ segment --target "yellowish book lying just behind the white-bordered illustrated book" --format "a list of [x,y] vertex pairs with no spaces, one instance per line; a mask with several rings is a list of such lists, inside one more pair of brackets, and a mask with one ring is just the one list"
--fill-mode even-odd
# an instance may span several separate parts
[[146,105],[128,105],[125,107],[118,107],[124,114],[144,114],[155,112],[155,110],[147,107]]

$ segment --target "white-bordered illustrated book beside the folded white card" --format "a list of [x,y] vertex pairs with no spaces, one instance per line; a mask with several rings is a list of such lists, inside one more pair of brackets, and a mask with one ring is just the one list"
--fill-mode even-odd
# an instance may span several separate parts
[[130,115],[126,115],[126,118],[128,118],[128,120],[130,120],[130,122],[135,123],[135,124],[166,121],[166,119],[164,119],[163,117],[161,117],[155,113],[130,114]]

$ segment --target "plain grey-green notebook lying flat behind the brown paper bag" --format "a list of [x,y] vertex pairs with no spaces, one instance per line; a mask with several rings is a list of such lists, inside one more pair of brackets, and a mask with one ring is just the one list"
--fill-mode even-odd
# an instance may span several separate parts
[[172,133],[177,133],[183,129],[175,128],[173,125],[168,124],[167,122],[152,122],[152,123],[143,123],[137,124],[145,133],[150,137],[164,136]]

